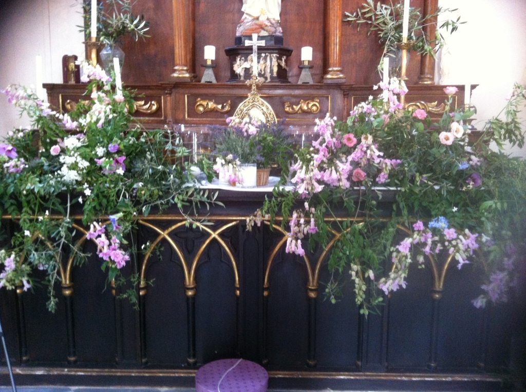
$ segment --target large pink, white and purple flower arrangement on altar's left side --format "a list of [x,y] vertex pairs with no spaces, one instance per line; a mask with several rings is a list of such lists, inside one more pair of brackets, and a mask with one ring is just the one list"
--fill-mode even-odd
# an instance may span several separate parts
[[[112,78],[98,65],[83,66],[92,99],[80,101],[68,114],[59,114],[22,86],[3,90],[32,123],[10,132],[0,145],[0,211],[19,225],[11,244],[0,251],[0,285],[13,288],[22,282],[27,290],[35,283],[32,271],[44,270],[50,310],[56,307],[54,285],[62,259],[74,257],[78,265],[87,256],[75,246],[74,214],[90,226],[86,238],[96,242],[108,281],[118,285],[124,283],[120,270],[135,262],[129,234],[140,214],[173,205],[191,221],[191,207],[213,201],[198,189],[189,159],[169,163],[171,157],[190,156],[178,135],[142,128],[129,113],[130,94],[116,94]],[[211,179],[211,162],[198,164]]]

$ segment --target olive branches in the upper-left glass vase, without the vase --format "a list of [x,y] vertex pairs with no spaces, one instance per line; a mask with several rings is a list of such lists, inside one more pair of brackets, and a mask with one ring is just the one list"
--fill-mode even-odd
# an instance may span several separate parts
[[[84,26],[82,31],[86,40],[90,36],[91,27],[91,2],[84,0]],[[131,0],[104,0],[97,3],[97,37],[99,42],[114,45],[125,35],[131,35],[135,40],[149,37],[146,32],[149,23],[143,16],[135,16],[132,8],[135,1]]]

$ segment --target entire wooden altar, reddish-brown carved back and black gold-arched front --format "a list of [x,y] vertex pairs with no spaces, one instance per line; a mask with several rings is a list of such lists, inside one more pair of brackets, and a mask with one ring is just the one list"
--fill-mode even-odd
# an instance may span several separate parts
[[[343,24],[361,0],[283,0],[281,26],[290,84],[264,83],[260,96],[277,119],[311,127],[327,112],[345,119],[374,94],[381,49],[377,38]],[[438,0],[412,0],[424,12]],[[247,99],[250,88],[226,83],[242,15],[241,0],[141,0],[137,11],[151,23],[145,42],[127,41],[125,86],[136,89],[135,116],[147,128],[179,123],[223,124]],[[427,26],[434,35],[434,26]],[[199,83],[203,47],[217,48],[217,84]],[[313,47],[315,84],[297,85],[300,48]],[[443,86],[433,84],[434,60],[412,54],[408,105],[443,114]],[[49,101],[62,112],[83,98],[86,85],[46,84]],[[463,86],[454,106],[463,102]],[[393,193],[380,203],[390,210]],[[408,288],[386,298],[380,314],[365,318],[352,286],[336,305],[323,301],[329,280],[328,249],[304,258],[284,252],[278,226],[245,231],[245,219],[261,205],[262,193],[220,192],[226,208],[210,212],[213,226],[187,229],[177,213],[141,219],[139,311],[120,301],[96,257],[82,268],[64,265],[57,314],[37,294],[0,295],[0,313],[15,377],[26,384],[193,386],[195,369],[210,360],[242,356],[265,364],[270,387],[290,389],[472,390],[502,389],[498,372],[517,353],[510,306],[476,310],[480,276],[447,264],[415,269]],[[385,219],[390,213],[386,212]],[[77,217],[79,218],[79,217]],[[359,221],[360,218],[358,217]],[[7,224],[7,223],[6,223]],[[16,224],[11,222],[9,224]],[[77,240],[86,228],[77,219]],[[7,224],[8,225],[8,224]],[[400,234],[404,229],[400,227]],[[335,239],[339,233],[333,233]],[[162,256],[162,258],[160,257]],[[66,259],[67,260],[67,257]],[[386,266],[387,267],[387,266]],[[126,273],[133,272],[127,266]],[[147,280],[153,280],[149,286]],[[516,314],[516,313],[515,313]],[[7,384],[5,371],[0,374]]]

